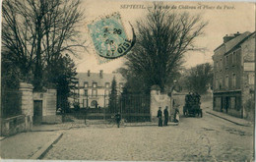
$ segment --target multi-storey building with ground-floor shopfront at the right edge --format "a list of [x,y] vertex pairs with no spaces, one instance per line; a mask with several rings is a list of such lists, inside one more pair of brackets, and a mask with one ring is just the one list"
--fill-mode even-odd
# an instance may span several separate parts
[[215,49],[214,110],[240,118],[253,118],[255,82],[255,32],[224,36]]

